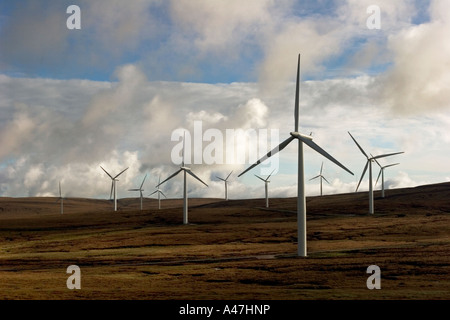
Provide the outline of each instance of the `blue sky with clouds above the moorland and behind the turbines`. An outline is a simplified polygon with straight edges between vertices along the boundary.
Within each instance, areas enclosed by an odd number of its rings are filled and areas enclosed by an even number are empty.
[[[379,159],[400,163],[386,188],[450,181],[449,30],[445,0],[2,1],[0,196],[57,196],[61,182],[109,198],[100,166],[129,167],[119,198],[146,174],[148,195],[178,170],[183,132],[209,186],[190,179],[190,197],[223,197],[217,177],[233,171],[231,199],[262,198],[254,175],[273,170],[270,196],[295,196],[297,143],[237,175],[294,130],[299,54],[299,131],[354,173],[304,146],[308,196],[322,162],[325,194],[355,191],[366,159],[348,132],[368,154],[404,152]],[[182,197],[182,176],[161,189]]]

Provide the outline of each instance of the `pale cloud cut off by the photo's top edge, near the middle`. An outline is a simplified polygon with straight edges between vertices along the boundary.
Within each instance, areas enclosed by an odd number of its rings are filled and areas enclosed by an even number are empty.
[[[265,29],[271,26],[274,15],[285,2],[174,1],[171,15],[181,30],[179,36],[193,39],[200,54],[213,52],[225,59],[236,59],[242,47],[254,44],[265,34]]]

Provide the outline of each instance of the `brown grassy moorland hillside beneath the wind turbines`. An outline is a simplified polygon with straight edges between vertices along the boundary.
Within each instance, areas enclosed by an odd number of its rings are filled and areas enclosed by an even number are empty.
[[[0,198],[2,299],[449,299],[450,184],[307,199],[308,257],[296,257],[296,199]],[[81,290],[66,268],[81,268]],[[381,290],[366,269],[381,268]]]

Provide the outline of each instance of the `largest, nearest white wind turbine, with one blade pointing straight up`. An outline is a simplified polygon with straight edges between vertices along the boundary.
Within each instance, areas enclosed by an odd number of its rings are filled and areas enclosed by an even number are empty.
[[[307,136],[298,132],[299,125],[299,95],[300,95],[300,54],[298,55],[298,65],[297,65],[297,85],[295,91],[295,105],[294,105],[294,120],[295,126],[294,131],[290,133],[290,137],[285,141],[280,143],[275,149],[267,153],[264,157],[259,159],[256,163],[248,167],[239,176],[243,175],[245,172],[253,169],[255,166],[266,160],[267,158],[273,156],[277,152],[283,150],[289,143],[294,139],[298,140],[298,185],[297,185],[297,232],[298,232],[298,255],[306,257],[306,199],[305,199],[305,175],[304,175],[304,165],[303,165],[303,143],[308,145],[313,150],[317,151],[330,161],[334,162],[336,165],[340,166],[347,172],[353,174],[350,170],[344,167],[340,162],[330,156],[325,150],[319,147],[315,142],[312,141],[311,136]]]

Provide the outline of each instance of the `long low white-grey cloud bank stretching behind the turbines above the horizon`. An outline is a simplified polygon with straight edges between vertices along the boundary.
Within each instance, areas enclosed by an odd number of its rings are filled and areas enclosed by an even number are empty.
[[[257,98],[259,91],[255,84],[150,82],[138,67],[131,65],[119,68],[117,74],[117,82],[89,82],[89,86],[72,80],[3,76],[2,88],[13,89],[9,92],[21,88],[21,94],[14,94],[13,99],[5,97],[4,101],[11,105],[2,106],[11,114],[10,118],[1,118],[2,137],[12,137],[3,141],[6,146],[2,148],[6,151],[1,158],[3,195],[51,192],[56,195],[58,181],[62,180],[67,192],[74,196],[107,197],[110,181],[100,165],[112,174],[130,167],[121,179],[121,190],[133,188],[145,173],[150,173],[148,183],[156,184],[157,177],[161,175],[164,179],[177,170],[171,151],[179,140],[171,141],[171,134],[184,128],[192,139],[199,139],[194,137],[196,122],[202,125],[200,152],[205,152],[213,142],[205,139],[208,129],[220,132],[225,146],[227,129],[254,129],[257,152],[262,155],[285,139],[284,135],[292,127],[292,92],[290,97],[283,92],[264,101]],[[300,110],[301,130],[307,134],[313,131],[316,143],[355,173],[352,177],[325,160],[327,179],[332,182],[326,187],[327,192],[355,188],[364,166],[364,156],[348,136],[348,130],[366,152],[405,151],[404,157],[395,160],[399,160],[399,169],[407,170],[405,172],[410,174],[412,181],[423,180],[420,170],[418,175],[414,172],[423,163],[430,162],[430,154],[437,154],[433,156],[434,172],[441,172],[442,176],[447,172],[444,160],[447,155],[438,150],[445,150],[443,146],[450,143],[446,130],[448,114],[442,113],[438,118],[430,117],[421,122],[412,116],[392,117],[387,106],[374,108],[371,97],[377,89],[372,84],[373,78],[360,77],[309,81],[305,85]],[[288,89],[286,92],[292,91],[290,85]],[[39,92],[41,94],[35,94]],[[323,97],[330,92],[335,96],[326,103]],[[67,93],[82,98],[67,99]],[[30,99],[30,96],[34,98]],[[221,98],[217,99],[218,96]],[[416,128],[414,132],[411,132],[411,126]],[[259,136],[260,129],[276,129],[278,135],[272,136],[268,132]],[[234,150],[248,154],[248,142],[252,140],[237,139],[233,143]],[[192,147],[194,150],[194,145]],[[271,184],[273,194],[290,196],[296,186],[296,144],[279,155],[279,172],[274,174]],[[193,169],[207,183],[214,181],[216,175],[227,175],[231,170],[238,174],[251,162],[247,157],[244,163],[205,164],[203,156],[201,154],[200,163],[193,164]],[[320,155],[305,147],[307,176],[317,174],[321,161],[324,159]],[[250,190],[257,192],[258,189],[253,189],[257,188],[256,182],[251,177],[249,173],[236,179],[235,186],[230,188],[238,191],[247,186],[250,188],[248,194],[253,194]],[[316,184],[316,181],[308,182],[308,190],[314,193]],[[167,189],[164,190],[176,195],[181,186],[181,180],[173,179],[165,184]],[[193,182],[190,186],[193,195],[214,196],[220,191],[220,185],[206,189]],[[120,195],[127,196],[122,191]]]

